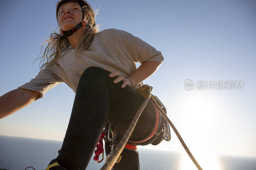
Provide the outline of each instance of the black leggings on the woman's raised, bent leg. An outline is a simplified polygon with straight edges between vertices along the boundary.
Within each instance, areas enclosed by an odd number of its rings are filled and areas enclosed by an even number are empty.
[[[89,67],[82,74],[68,123],[68,129],[56,158],[70,169],[86,169],[107,119],[118,133],[124,135],[145,97],[100,67]],[[147,137],[155,123],[151,102],[143,110],[129,140]],[[141,133],[143,132],[143,133]],[[105,135],[107,136],[107,134]]]

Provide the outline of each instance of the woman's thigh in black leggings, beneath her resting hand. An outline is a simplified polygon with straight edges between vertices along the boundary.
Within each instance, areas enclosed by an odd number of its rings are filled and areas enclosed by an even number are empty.
[[[123,81],[117,83],[117,86],[115,84],[116,88],[111,88],[111,84],[114,86],[113,80],[109,83],[108,121],[115,127],[117,132],[123,136],[146,98],[128,85],[121,88]],[[139,141],[147,137],[154,127],[155,117],[154,106],[151,102],[148,102],[129,140]]]

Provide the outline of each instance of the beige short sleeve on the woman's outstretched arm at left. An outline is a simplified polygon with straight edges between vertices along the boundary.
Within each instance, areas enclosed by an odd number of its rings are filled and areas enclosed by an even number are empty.
[[[56,72],[58,71],[57,69],[58,65],[52,67],[46,66],[43,70],[39,71],[36,77],[31,79],[30,82],[25,83],[18,88],[39,92],[41,95],[39,95],[36,100],[41,99],[43,98],[44,93],[63,82],[63,80],[56,75]]]

